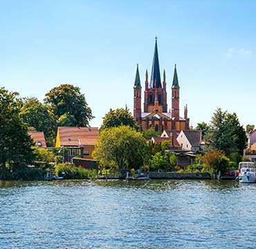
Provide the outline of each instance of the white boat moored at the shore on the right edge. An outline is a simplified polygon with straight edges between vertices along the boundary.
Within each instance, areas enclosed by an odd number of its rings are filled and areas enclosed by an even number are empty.
[[[254,163],[241,162],[239,163],[239,182],[240,183],[255,183],[256,174]]]

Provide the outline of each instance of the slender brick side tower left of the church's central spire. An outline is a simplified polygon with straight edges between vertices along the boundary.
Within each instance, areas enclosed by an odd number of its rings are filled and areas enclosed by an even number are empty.
[[[141,85],[140,73],[138,72],[138,64],[136,70],[136,77],[134,82],[134,118],[138,124],[141,120]]]

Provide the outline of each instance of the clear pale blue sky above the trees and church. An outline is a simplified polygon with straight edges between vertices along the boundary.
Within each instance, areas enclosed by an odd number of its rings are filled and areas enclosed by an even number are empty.
[[[21,97],[79,86],[100,127],[109,109],[133,112],[136,64],[145,89],[155,37],[171,108],[174,64],[190,124],[237,113],[256,124],[256,1],[1,0],[0,87]],[[142,104],[143,106],[143,104]]]

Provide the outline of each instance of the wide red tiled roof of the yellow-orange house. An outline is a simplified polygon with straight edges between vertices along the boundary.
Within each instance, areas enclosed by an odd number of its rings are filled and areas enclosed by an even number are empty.
[[[58,127],[60,146],[95,145],[100,132],[98,127]]]

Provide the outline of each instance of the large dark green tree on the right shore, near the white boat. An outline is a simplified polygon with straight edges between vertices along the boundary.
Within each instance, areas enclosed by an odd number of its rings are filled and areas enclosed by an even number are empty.
[[[227,113],[218,108],[212,116],[210,130],[206,136],[208,149],[219,149],[229,156],[232,151],[243,153],[246,133],[239,124],[236,113]]]

